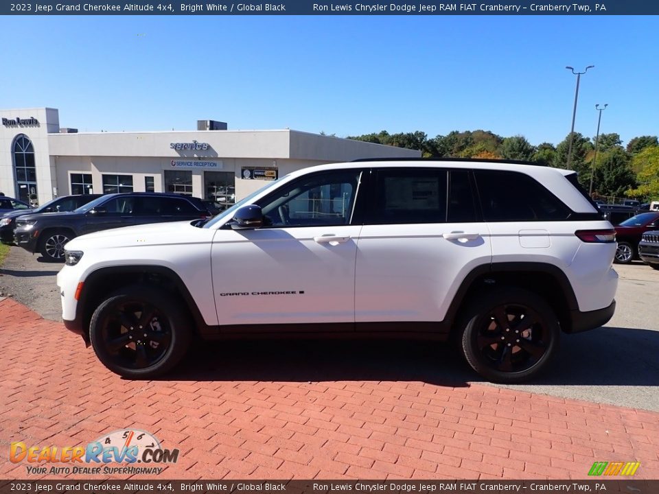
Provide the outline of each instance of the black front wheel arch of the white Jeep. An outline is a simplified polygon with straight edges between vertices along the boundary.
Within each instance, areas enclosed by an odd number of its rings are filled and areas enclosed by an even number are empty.
[[[198,333],[206,323],[194,298],[181,277],[165,266],[135,265],[111,266],[91,272],[84,280],[83,290],[76,306],[76,319],[80,321],[83,338],[89,343],[89,322],[95,309],[107,296],[122,287],[143,284],[163,288],[181,298],[183,306],[194,321],[192,330]]]

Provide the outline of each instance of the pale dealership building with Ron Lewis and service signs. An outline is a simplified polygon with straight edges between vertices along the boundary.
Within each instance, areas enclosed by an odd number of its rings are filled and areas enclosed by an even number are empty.
[[[415,158],[417,150],[297,130],[78,132],[55,108],[0,110],[0,191],[43,204],[80,193],[183,193],[231,204],[294,170],[359,158]]]

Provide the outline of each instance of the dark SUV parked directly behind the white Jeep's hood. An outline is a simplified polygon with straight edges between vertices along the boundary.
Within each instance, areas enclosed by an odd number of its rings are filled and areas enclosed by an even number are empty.
[[[174,193],[107,194],[68,213],[23,215],[16,220],[14,241],[48,261],[64,261],[64,246],[85,233],[137,224],[196,220],[212,214],[198,198]]]

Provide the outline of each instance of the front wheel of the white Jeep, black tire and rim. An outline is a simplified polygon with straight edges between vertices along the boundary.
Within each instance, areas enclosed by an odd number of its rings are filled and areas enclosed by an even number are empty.
[[[99,360],[114,373],[152,379],[170,371],[187,353],[189,318],[170,292],[132,285],[97,307],[89,338]]]

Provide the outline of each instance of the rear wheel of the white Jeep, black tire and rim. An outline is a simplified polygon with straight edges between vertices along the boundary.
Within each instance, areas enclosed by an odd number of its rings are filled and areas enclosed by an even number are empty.
[[[506,384],[527,381],[542,372],[558,350],[561,332],[548,303],[514,287],[474,299],[459,330],[463,355],[474,371]]]

